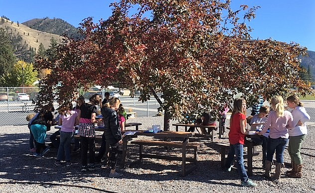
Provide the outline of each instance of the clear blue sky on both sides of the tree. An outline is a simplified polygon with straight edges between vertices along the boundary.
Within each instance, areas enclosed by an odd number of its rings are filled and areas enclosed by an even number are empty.
[[[22,23],[33,18],[61,18],[75,27],[84,18],[97,22],[111,15],[114,0],[0,0],[0,15]],[[296,42],[315,51],[315,0],[231,0],[232,6],[259,5],[248,23],[253,39]]]

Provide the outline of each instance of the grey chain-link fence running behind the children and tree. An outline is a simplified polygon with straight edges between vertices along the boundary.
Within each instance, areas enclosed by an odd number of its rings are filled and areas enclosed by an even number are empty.
[[[33,113],[34,104],[32,104],[32,99],[36,97],[38,91],[38,87],[0,87],[0,126],[27,125],[26,116]],[[99,94],[104,97],[103,91],[100,91]],[[88,97],[85,98],[88,102]],[[161,100],[163,102],[163,99]],[[142,103],[138,101],[138,96],[135,96],[135,98],[120,96],[120,101],[130,119],[133,117],[157,116],[157,109],[160,107],[155,98]],[[302,102],[311,116],[310,122],[315,123],[315,101]],[[58,103],[55,102],[54,106],[57,109]],[[247,111],[247,116],[250,115],[250,112],[250,110]]]

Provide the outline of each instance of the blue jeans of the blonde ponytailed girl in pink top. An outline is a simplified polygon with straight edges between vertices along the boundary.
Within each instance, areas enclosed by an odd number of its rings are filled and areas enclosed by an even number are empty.
[[[286,148],[286,145],[288,143],[288,138],[270,138],[268,137],[268,142],[267,142],[267,158],[266,160],[271,161],[273,159],[273,154],[276,151],[276,160],[277,163],[283,163],[283,154],[284,150]]]

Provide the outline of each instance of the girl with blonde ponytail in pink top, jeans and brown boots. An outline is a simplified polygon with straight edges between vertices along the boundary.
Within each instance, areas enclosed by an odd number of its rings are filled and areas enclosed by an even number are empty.
[[[283,154],[288,143],[288,129],[292,127],[293,117],[289,111],[285,111],[282,96],[273,96],[271,98],[271,107],[273,111],[268,115],[266,124],[262,131],[257,134],[263,134],[270,129],[267,141],[267,157],[265,176],[270,177],[273,154],[276,152],[276,172],[272,176],[274,179],[280,179],[281,166],[283,164]]]

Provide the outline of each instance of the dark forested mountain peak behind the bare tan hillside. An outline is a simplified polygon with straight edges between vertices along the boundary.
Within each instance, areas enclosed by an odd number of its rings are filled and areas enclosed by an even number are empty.
[[[70,23],[59,19],[49,17],[45,17],[43,19],[31,19],[22,23],[32,29],[36,29],[42,32],[57,34],[61,36],[68,36],[74,39],[82,38],[82,36],[78,33],[78,28],[75,28]]]

